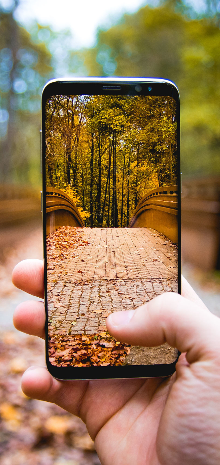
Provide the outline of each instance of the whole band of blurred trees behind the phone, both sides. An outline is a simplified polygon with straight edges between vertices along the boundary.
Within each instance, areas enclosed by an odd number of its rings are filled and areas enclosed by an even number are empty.
[[[40,186],[40,94],[57,75],[154,76],[174,80],[181,95],[184,176],[220,173],[220,16],[177,1],[125,14],[97,45],[71,50],[70,33],[38,24],[29,31],[0,11],[1,182]]]

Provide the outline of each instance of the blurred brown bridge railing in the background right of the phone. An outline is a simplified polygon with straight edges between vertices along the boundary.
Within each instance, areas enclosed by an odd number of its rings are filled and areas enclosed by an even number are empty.
[[[183,259],[220,270],[220,176],[185,179],[181,197]]]

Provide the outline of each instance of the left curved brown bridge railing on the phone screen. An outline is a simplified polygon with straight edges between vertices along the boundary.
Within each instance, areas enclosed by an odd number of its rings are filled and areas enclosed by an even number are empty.
[[[46,187],[46,234],[60,226],[84,227],[77,206],[69,195],[52,187]]]

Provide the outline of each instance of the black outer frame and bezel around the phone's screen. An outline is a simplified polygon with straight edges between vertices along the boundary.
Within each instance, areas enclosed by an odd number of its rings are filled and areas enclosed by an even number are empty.
[[[142,86],[137,92],[135,86]],[[103,89],[103,86],[106,88]],[[148,86],[152,90],[148,90]],[[113,87],[113,88],[112,88]],[[115,88],[114,88],[115,87]],[[48,314],[47,314],[47,267],[46,267],[46,195],[45,195],[45,102],[53,95],[164,95],[173,97],[177,104],[177,188],[178,188],[178,293],[181,294],[181,166],[180,166],[180,96],[176,85],[165,79],[156,78],[74,78],[50,80],[44,87],[41,98],[42,120],[42,212],[44,243],[44,302],[45,302],[45,350],[46,366],[54,378],[71,379],[123,379],[154,378],[170,376],[180,355],[171,364],[164,365],[117,365],[58,367],[49,361],[48,353]]]

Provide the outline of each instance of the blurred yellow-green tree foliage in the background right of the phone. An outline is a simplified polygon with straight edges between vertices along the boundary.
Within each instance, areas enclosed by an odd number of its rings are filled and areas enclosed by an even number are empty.
[[[183,174],[220,173],[219,16],[211,2],[212,17],[192,19],[187,13],[181,2],[166,2],[125,14],[116,26],[99,31],[97,45],[80,56],[90,75],[173,80],[181,96]]]

